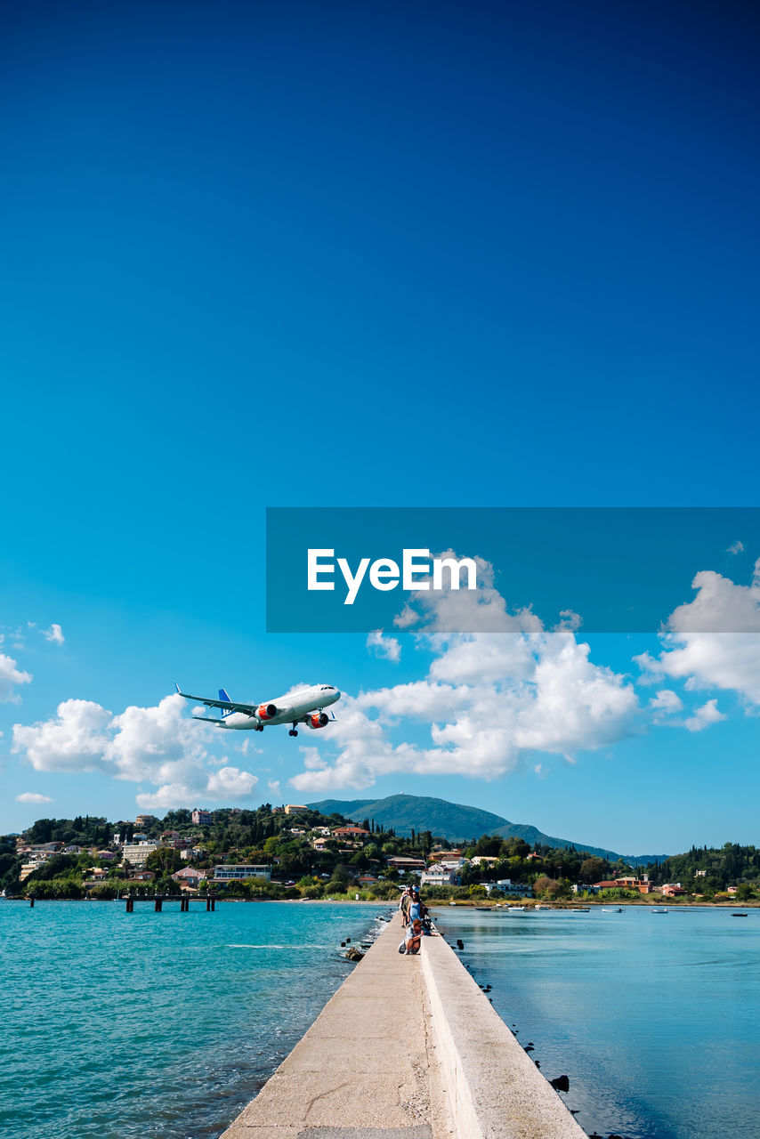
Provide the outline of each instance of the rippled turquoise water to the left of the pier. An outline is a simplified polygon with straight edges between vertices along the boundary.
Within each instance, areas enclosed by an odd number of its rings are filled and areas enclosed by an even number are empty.
[[[213,1139],[387,906],[0,901],[1,1139]]]

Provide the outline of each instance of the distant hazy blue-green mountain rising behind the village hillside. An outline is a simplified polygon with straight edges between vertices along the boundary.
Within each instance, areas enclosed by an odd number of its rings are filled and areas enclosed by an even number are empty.
[[[603,846],[579,843],[571,838],[556,838],[545,835],[537,827],[526,823],[509,822],[500,814],[481,811],[476,806],[465,806],[461,803],[448,803],[443,798],[428,798],[422,795],[389,795],[386,798],[326,798],[319,803],[310,803],[314,811],[322,814],[342,814],[348,819],[361,822],[362,819],[374,819],[385,829],[391,827],[397,835],[409,835],[412,830],[431,830],[434,835],[459,843],[481,835],[499,835],[500,838],[523,838],[533,846],[574,846],[575,850],[597,854],[611,862],[616,862],[620,854]],[[623,854],[623,860],[631,866],[646,866],[655,859],[667,858],[665,854]]]

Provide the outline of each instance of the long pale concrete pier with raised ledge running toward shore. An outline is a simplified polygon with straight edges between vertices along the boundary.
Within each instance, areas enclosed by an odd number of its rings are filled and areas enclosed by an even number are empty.
[[[397,917],[221,1139],[585,1139],[442,937]]]

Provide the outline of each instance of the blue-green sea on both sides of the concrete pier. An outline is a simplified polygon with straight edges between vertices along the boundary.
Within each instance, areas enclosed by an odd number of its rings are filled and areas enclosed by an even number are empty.
[[[0,901],[0,1139],[218,1139],[390,912]],[[760,1139],[760,910],[736,912],[434,916],[588,1134]]]

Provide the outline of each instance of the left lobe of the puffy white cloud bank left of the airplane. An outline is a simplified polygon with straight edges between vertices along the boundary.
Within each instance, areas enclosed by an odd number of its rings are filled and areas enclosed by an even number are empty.
[[[64,700],[52,720],[15,723],[11,751],[23,754],[35,771],[105,770],[111,721],[111,712],[92,700]]]

